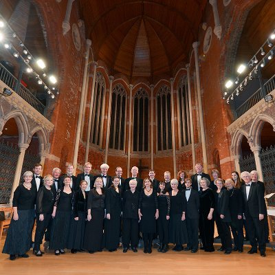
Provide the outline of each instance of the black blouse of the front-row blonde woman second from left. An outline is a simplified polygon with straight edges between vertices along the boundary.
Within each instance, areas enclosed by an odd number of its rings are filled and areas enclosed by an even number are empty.
[[[52,189],[48,190],[45,186],[39,188],[36,197],[36,213],[45,214],[52,213],[54,208],[54,192]]]

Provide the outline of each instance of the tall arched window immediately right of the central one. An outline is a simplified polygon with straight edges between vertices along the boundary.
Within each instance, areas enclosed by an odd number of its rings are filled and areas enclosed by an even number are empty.
[[[157,150],[172,149],[171,91],[166,85],[159,88],[156,96]]]

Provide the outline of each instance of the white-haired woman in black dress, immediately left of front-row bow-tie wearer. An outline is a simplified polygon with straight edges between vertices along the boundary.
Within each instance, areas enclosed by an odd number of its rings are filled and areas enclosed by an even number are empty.
[[[170,221],[169,221],[169,242],[175,243],[174,251],[181,251],[182,245],[187,243],[187,230],[185,221],[185,203],[183,192],[177,188],[177,179],[171,180],[172,190],[170,195]]]

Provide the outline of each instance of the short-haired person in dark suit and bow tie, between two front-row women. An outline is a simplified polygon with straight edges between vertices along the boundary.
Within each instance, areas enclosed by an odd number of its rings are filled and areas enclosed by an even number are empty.
[[[196,253],[199,246],[199,192],[192,189],[191,185],[191,179],[186,178],[184,198],[186,203],[185,217],[188,242],[184,250],[191,250],[192,253]]]

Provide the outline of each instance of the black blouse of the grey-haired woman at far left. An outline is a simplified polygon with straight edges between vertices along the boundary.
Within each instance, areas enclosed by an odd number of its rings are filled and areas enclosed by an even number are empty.
[[[14,191],[12,207],[17,207],[17,210],[34,209],[36,193],[35,186],[31,186],[30,190],[28,190],[23,184],[19,185]]]

